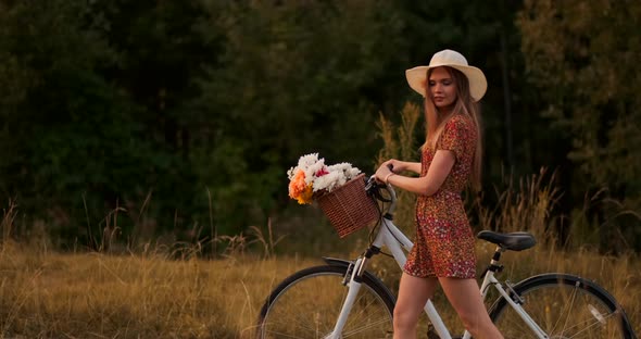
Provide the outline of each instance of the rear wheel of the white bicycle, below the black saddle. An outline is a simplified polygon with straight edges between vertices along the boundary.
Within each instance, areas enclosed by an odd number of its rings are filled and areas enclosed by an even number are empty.
[[[549,338],[634,338],[614,297],[591,280],[552,273],[525,279],[513,290],[511,298],[523,300],[523,309]],[[503,297],[489,312],[505,338],[536,338]]]

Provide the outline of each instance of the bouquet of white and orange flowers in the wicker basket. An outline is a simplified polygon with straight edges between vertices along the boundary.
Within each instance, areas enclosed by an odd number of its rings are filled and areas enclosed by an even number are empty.
[[[299,159],[297,166],[287,171],[289,177],[289,197],[300,204],[310,204],[315,194],[330,192],[361,174],[361,170],[350,163],[326,165],[318,153],[311,153]]]

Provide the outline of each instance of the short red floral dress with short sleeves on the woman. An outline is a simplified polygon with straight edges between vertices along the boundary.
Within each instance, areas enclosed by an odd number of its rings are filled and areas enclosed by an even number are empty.
[[[445,123],[437,150],[454,152],[456,161],[441,188],[416,201],[416,239],[403,271],[416,277],[474,278],[475,237],[461,198],[474,159],[477,131],[473,122],[456,114]],[[420,176],[427,175],[436,151],[423,148]]]

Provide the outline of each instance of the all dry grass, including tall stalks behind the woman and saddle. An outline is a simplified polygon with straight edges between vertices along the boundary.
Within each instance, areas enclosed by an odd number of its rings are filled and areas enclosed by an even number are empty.
[[[419,112],[406,105],[398,129],[381,117],[388,147],[380,160],[418,159],[411,140]],[[528,230],[540,240],[526,252],[505,253],[500,277],[518,281],[564,272],[595,280],[619,301],[641,332],[641,259],[634,253],[602,255],[577,239],[571,246],[558,243],[558,223],[551,211],[560,193],[550,178],[553,174],[544,171],[529,178],[506,178],[505,188],[493,192],[500,208],[488,209],[478,200],[470,204],[476,227]],[[395,221],[412,236],[414,198],[401,193],[400,199]],[[323,216],[310,210],[299,218],[271,219],[248,234],[218,235],[214,246],[226,249],[218,260],[200,259],[198,242],[149,242],[136,253],[56,253],[46,239],[14,241],[16,215],[10,202],[0,223],[0,338],[251,338],[274,287],[293,272],[319,264],[309,254],[353,259],[367,246],[365,231],[338,240],[320,222]],[[46,238],[45,225],[35,226]],[[479,273],[493,250],[492,244],[477,243]],[[391,260],[377,258],[369,269],[395,290],[400,269]],[[452,331],[461,331],[441,293],[435,302]]]

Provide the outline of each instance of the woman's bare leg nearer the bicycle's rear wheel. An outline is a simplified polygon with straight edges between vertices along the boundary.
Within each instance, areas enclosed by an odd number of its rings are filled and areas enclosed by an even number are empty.
[[[503,338],[492,324],[475,279],[439,278],[443,292],[474,338]]]

